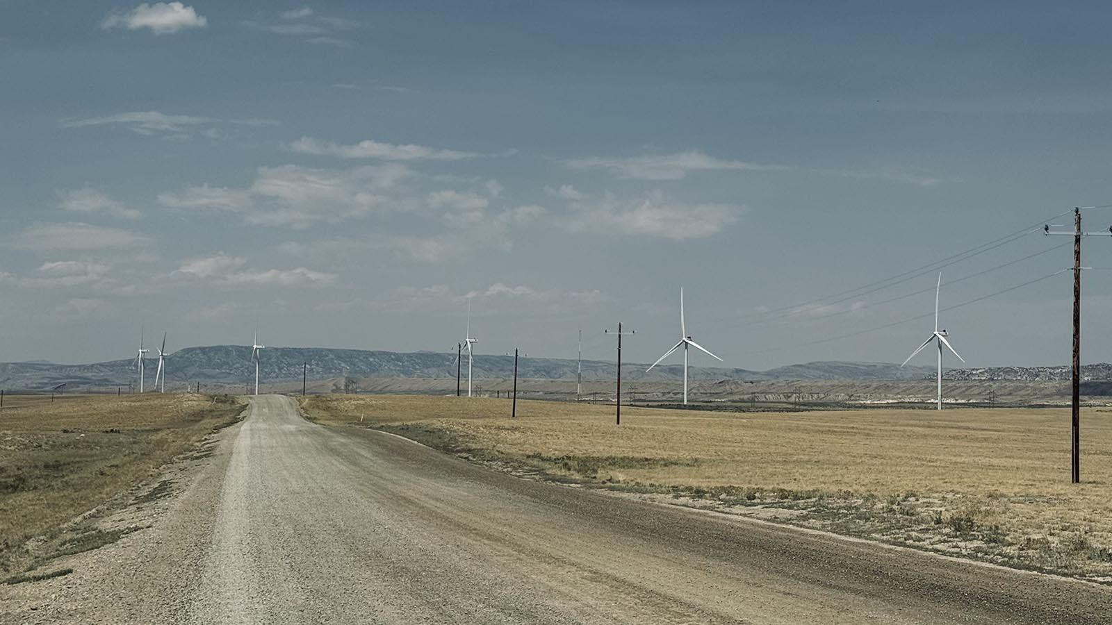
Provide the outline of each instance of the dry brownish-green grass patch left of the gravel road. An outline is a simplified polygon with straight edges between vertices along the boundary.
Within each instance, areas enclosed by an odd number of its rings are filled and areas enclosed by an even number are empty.
[[[49,542],[63,523],[150,478],[241,411],[230,398],[191,394],[4,396],[0,572],[33,559],[29,539]],[[91,533],[60,548],[72,553],[92,538],[103,539]]]

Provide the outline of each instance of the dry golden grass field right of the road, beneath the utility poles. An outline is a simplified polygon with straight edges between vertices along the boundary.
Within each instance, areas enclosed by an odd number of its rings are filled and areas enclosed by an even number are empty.
[[[1112,411],[711,413],[427,396],[310,396],[310,418],[523,474],[1112,583]]]

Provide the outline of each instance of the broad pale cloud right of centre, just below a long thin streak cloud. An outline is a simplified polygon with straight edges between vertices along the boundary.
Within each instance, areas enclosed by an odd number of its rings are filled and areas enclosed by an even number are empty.
[[[698,239],[722,231],[737,221],[742,206],[725,204],[683,204],[665,198],[661,191],[633,200],[605,195],[594,200],[574,201],[564,221],[573,232],[615,232],[665,239]]]

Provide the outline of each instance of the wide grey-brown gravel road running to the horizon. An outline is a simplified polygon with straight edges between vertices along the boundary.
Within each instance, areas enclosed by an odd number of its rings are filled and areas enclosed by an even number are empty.
[[[254,399],[151,527],[0,623],[1112,622],[1112,591],[475,467]]]

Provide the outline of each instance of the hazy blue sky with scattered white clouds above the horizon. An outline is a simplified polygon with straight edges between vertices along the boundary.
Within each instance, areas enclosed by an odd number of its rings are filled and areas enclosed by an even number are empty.
[[[610,358],[622,319],[652,361],[682,285],[728,366],[902,361],[936,274],[822,298],[1112,204],[1112,9],[969,4],[0,0],[0,360],[256,317],[268,345],[446,351],[473,294],[478,353],[574,357],[583,328]],[[1065,242],[946,267],[943,306]],[[1082,356],[1112,360],[1112,239],[1085,249]],[[972,366],[1064,364],[1070,292],[943,325]]]

